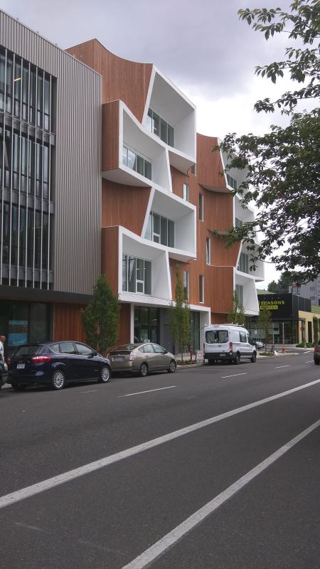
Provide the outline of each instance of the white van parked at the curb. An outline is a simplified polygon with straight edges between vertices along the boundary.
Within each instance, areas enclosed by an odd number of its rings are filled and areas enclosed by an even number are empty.
[[[205,360],[213,364],[215,361],[232,361],[240,363],[240,359],[250,359],[255,363],[257,349],[249,332],[237,324],[215,324],[204,329]]]

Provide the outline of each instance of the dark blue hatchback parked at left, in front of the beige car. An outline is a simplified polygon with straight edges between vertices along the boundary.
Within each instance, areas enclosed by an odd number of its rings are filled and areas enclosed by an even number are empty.
[[[110,361],[82,342],[51,341],[20,346],[8,358],[9,378],[15,390],[28,385],[50,385],[63,389],[68,381],[95,379],[107,383]]]

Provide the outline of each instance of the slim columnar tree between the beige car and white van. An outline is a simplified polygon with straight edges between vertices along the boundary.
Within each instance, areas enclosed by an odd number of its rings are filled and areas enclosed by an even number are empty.
[[[181,352],[181,361],[183,361],[183,353],[188,350],[191,341],[191,323],[189,302],[178,267],[176,270],[175,292],[176,301],[171,302],[169,307],[169,329],[175,346]]]

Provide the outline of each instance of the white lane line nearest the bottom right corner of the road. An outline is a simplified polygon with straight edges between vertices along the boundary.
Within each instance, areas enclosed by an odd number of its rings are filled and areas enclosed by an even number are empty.
[[[246,484],[251,482],[255,477],[257,477],[261,472],[263,472],[266,468],[270,467],[276,460],[282,457],[286,452],[288,452],[294,445],[297,445],[298,442],[307,437],[312,431],[314,431],[320,425],[320,420],[310,425],[306,430],[302,431],[294,437],[292,440],[289,440],[283,447],[280,447],[276,452],[270,454],[265,460],[262,460],[260,464],[257,464],[255,468],[252,468],[247,474],[244,474],[241,478],[239,478],[236,482],[228,486],[227,489],[220,492],[218,496],[215,496],[213,500],[208,502],[205,506],[201,509],[196,511],[192,516],[189,516],[185,521],[180,523],[176,528],[166,534],[163,538],[159,539],[153,546],[149,547],[136,557],[127,565],[124,565],[122,569],[143,569],[149,563],[153,562],[157,558],[160,557],[165,551],[172,547],[178,540],[186,536],[186,533],[191,531],[193,528],[198,526],[204,519],[206,519],[210,514],[212,514],[219,506],[224,504],[225,501],[232,498],[239,490],[241,490]]]

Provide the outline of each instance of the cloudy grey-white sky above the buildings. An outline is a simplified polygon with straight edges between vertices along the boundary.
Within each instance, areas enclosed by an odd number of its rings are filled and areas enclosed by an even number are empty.
[[[4,11],[61,48],[97,38],[117,55],[155,63],[197,105],[197,130],[266,132],[279,115],[257,115],[256,100],[284,92],[256,78],[255,65],[281,60],[287,38],[266,42],[238,9],[289,9],[292,0],[0,0]],[[266,282],[279,275],[266,267]],[[265,286],[265,283],[262,283]]]

